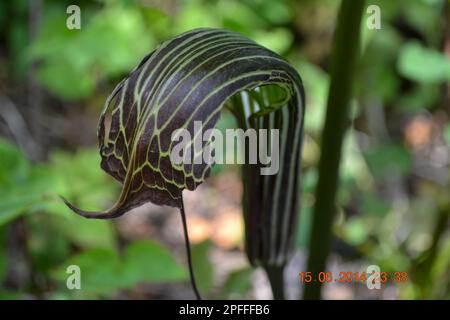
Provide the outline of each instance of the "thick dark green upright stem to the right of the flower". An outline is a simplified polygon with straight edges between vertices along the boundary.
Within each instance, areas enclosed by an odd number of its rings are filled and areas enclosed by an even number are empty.
[[[325,125],[322,133],[319,180],[313,211],[307,271],[317,276],[325,270],[330,249],[331,227],[336,211],[342,141],[349,124],[349,104],[353,74],[358,58],[360,24],[364,0],[343,0],[331,55],[331,82]],[[311,282],[305,299],[320,299],[321,283]]]

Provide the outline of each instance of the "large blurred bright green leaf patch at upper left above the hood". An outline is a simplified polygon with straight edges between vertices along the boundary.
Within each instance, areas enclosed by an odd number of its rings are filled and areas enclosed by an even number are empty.
[[[128,71],[154,45],[140,11],[120,2],[95,12],[83,8],[81,30],[61,27],[66,23],[61,10],[46,13],[28,58],[40,62],[41,84],[63,99],[89,97],[103,77]]]

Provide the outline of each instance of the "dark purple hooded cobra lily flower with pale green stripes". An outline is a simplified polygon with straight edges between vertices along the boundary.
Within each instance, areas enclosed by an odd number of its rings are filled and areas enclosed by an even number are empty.
[[[119,199],[105,212],[80,210],[65,200],[77,214],[97,219],[119,217],[147,202],[179,208],[198,297],[182,191],[200,185],[211,164],[172,163],[171,136],[180,128],[193,135],[194,121],[202,121],[204,130],[214,128],[225,106],[242,129],[279,130],[279,171],[261,175],[263,164],[242,168],[246,253],[268,271],[272,287],[279,286],[299,213],[303,86],[287,61],[238,33],[196,29],[147,55],[109,96],[98,126],[101,167],[122,183]]]

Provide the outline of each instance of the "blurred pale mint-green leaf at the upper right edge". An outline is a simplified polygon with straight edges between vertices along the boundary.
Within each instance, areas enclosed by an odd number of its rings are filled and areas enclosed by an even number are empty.
[[[450,81],[450,59],[418,42],[408,42],[403,46],[398,69],[403,76],[420,83]]]

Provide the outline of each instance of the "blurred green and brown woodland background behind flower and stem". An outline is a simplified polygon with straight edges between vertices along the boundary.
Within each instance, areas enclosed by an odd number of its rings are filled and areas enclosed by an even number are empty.
[[[160,42],[196,27],[241,32],[303,78],[306,133],[298,253],[305,271],[329,56],[338,0],[0,2],[0,299],[192,298],[181,221],[146,205],[114,221],[75,216],[58,198],[109,208],[120,186],[99,166],[96,125],[109,93]],[[448,0],[368,1],[345,138],[328,270],[408,272],[382,290],[327,284],[326,299],[450,298],[450,9]],[[233,121],[224,114],[219,126]],[[300,196],[300,195],[299,195]],[[271,298],[243,253],[239,170],[216,166],[185,191],[194,268],[207,298]],[[82,270],[68,290],[66,268]]]

